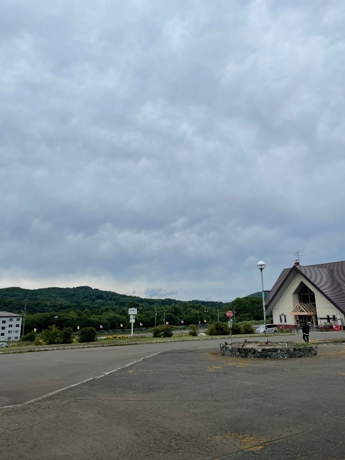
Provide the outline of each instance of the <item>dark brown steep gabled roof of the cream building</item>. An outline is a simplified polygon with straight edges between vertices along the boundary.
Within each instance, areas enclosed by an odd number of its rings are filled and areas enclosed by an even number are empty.
[[[296,272],[301,273],[315,289],[345,314],[345,261],[306,266],[294,265],[292,268],[284,268],[266,297],[266,308],[271,305],[290,275]]]

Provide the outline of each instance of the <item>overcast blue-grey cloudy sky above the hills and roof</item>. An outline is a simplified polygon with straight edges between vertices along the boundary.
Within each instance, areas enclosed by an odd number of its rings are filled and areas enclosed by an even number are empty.
[[[2,0],[0,287],[228,302],[345,259],[342,0]]]

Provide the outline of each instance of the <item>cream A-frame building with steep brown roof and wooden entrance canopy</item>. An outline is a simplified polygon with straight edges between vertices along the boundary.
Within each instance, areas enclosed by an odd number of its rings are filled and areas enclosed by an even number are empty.
[[[266,315],[287,328],[345,323],[345,261],[284,268],[265,300]]]

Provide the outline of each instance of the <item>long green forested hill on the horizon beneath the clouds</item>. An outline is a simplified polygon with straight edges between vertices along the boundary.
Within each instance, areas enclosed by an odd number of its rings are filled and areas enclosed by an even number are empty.
[[[171,298],[154,299],[142,298],[112,291],[102,291],[89,286],[75,288],[41,288],[22,289],[10,287],[0,289],[0,310],[21,313],[27,299],[28,313],[57,313],[61,311],[78,311],[87,309],[89,312],[98,312],[102,307],[110,307],[111,310],[127,308],[131,306],[142,307],[165,307],[173,304],[188,307],[201,305],[203,307],[219,308],[228,304],[222,302],[207,301],[176,301]]]

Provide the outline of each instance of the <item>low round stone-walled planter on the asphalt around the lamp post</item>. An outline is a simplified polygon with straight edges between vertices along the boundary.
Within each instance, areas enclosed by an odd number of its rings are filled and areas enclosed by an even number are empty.
[[[260,346],[249,342],[243,343],[221,343],[220,354],[234,358],[307,358],[317,355],[317,347],[294,347],[293,343],[272,344],[272,346]]]

